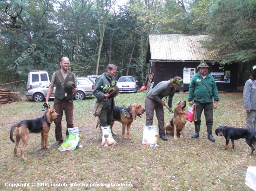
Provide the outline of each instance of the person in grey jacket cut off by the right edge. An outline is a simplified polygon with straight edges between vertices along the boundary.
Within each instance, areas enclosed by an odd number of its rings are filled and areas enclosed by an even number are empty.
[[[256,131],[256,65],[252,67],[250,78],[244,85],[243,102],[246,110],[245,128]]]

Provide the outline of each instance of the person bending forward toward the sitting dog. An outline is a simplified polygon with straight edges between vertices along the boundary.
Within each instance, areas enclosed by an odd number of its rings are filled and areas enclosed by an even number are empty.
[[[156,118],[158,120],[158,130],[159,135],[162,140],[167,140],[165,136],[165,125],[164,125],[164,112],[163,106],[165,103],[162,101],[164,96],[168,96],[168,106],[172,108],[172,99],[175,94],[176,88],[182,88],[183,83],[177,80],[182,78],[176,76],[174,79],[168,81],[162,81],[158,83],[153,89],[151,89],[145,99],[145,109],[146,109],[146,125],[153,124],[154,110]]]

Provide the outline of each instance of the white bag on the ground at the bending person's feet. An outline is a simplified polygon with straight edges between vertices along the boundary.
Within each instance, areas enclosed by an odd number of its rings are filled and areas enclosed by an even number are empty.
[[[158,134],[157,125],[145,125],[144,124],[142,144],[149,145],[150,147],[152,147],[153,145],[156,145],[156,137],[155,137],[156,134]]]

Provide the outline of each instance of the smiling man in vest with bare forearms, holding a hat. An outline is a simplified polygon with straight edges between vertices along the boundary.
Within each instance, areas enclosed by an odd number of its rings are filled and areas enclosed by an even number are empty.
[[[74,104],[73,104],[73,93],[77,92],[75,88],[76,76],[73,72],[69,71],[70,61],[67,57],[61,58],[61,70],[54,72],[52,77],[51,85],[47,92],[46,104],[49,106],[49,98],[53,93],[54,85],[56,85],[56,90],[54,94],[54,109],[59,114],[59,118],[54,120],[55,123],[55,137],[56,143],[53,145],[54,147],[59,146],[63,142],[62,137],[62,116],[63,110],[65,111],[67,128],[74,127]],[[67,83],[73,83],[74,87],[70,91],[68,91]],[[68,130],[66,131],[66,135],[68,134]]]

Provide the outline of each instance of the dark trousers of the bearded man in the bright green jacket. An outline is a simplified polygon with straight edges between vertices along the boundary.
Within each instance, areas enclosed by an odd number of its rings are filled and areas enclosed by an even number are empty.
[[[196,104],[196,115],[197,115],[197,121],[194,122],[195,125],[201,124],[202,110],[205,116],[206,125],[213,125],[212,102],[200,103],[200,102],[194,101],[194,103]]]

